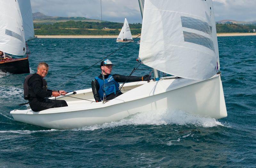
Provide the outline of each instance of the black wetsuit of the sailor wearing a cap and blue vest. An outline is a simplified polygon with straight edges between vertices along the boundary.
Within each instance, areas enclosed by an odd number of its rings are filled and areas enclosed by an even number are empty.
[[[100,74],[99,76],[100,79],[102,79],[102,74]],[[105,79],[108,78],[108,75],[105,75],[104,77]],[[113,75],[113,78],[117,81],[117,82],[136,82],[136,81],[141,81],[141,77],[138,77],[138,76],[124,76],[124,75],[118,75],[118,74],[115,74]],[[99,89],[100,89],[100,85],[98,83],[97,80],[92,80],[92,93],[94,95],[94,99],[96,102],[101,102],[101,99],[100,99],[100,95],[99,95]],[[116,92],[116,94],[111,94],[111,95],[108,95],[106,97],[107,100],[111,100],[111,99],[114,99],[115,97],[119,96],[119,95],[122,95],[123,93],[119,90],[118,92]]]

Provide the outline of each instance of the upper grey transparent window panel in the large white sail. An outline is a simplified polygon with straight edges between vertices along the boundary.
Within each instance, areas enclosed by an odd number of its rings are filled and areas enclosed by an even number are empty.
[[[190,17],[181,16],[182,27],[187,27],[212,35],[211,26],[208,23]]]

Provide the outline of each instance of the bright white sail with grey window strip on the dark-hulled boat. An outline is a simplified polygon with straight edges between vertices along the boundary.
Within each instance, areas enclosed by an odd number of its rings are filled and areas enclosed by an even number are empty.
[[[1,0],[0,6],[0,50],[24,55],[26,45],[19,4],[15,0]]]

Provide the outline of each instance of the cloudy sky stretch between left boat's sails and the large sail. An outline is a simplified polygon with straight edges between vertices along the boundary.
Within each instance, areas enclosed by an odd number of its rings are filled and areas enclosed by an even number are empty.
[[[49,16],[80,16],[101,19],[100,0],[31,0],[32,12]],[[138,0],[102,0],[102,20],[141,22]]]

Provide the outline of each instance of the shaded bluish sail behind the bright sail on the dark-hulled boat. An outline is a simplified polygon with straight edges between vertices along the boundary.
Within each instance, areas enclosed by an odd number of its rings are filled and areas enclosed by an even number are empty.
[[[23,20],[25,40],[28,41],[35,38],[30,0],[18,0],[18,2]]]

